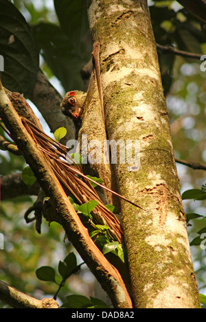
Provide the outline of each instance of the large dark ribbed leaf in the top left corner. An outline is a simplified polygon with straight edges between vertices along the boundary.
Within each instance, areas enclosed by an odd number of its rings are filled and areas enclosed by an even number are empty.
[[[0,0],[0,55],[4,58],[3,86],[29,97],[36,83],[39,53],[30,26],[16,7]]]

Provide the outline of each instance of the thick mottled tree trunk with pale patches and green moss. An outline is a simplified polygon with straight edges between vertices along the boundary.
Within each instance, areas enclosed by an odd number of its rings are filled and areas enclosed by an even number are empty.
[[[140,142],[140,166],[138,149],[133,164],[114,164],[118,193],[144,208],[121,201],[135,308],[199,308],[147,1],[88,3],[108,138]]]

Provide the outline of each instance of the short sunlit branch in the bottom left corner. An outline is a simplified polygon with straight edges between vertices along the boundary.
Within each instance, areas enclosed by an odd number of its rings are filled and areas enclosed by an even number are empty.
[[[35,299],[0,281],[0,300],[12,308],[58,308],[55,299]]]

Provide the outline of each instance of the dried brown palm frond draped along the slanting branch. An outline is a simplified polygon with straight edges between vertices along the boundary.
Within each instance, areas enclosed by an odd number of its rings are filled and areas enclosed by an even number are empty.
[[[104,206],[104,203],[98,196],[98,193],[96,193],[95,189],[91,185],[93,180],[89,179],[82,173],[81,167],[74,162],[71,156],[69,156],[67,147],[47,136],[47,134],[41,131],[39,127],[36,127],[36,125],[34,125],[34,123],[31,121],[23,117],[22,121],[27,128],[27,131],[31,134],[36,144],[40,147],[48,164],[50,164],[52,167],[52,170],[62,185],[62,188],[65,190],[67,196],[73,195],[73,197],[75,197],[80,204],[87,203],[89,200],[98,201],[98,205],[93,209],[93,216],[95,220],[100,224],[106,224],[108,227],[110,227],[112,236],[121,243],[123,232],[119,220],[115,214],[113,214],[113,212]],[[67,162],[68,158],[70,162]],[[98,183],[95,182],[95,184]],[[98,185],[102,186],[101,184]],[[106,187],[102,186],[102,188]],[[113,191],[111,192],[115,193]],[[122,197],[121,195],[117,193],[115,193],[115,195],[118,195],[124,200],[135,205],[133,202]],[[137,207],[140,208],[139,206]]]

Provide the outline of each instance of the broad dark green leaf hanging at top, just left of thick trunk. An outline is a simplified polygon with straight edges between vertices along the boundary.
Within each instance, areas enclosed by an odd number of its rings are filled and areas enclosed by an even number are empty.
[[[39,51],[66,92],[83,90],[80,70],[91,58],[86,3],[64,0],[54,5],[60,26],[42,22],[32,27]]]

